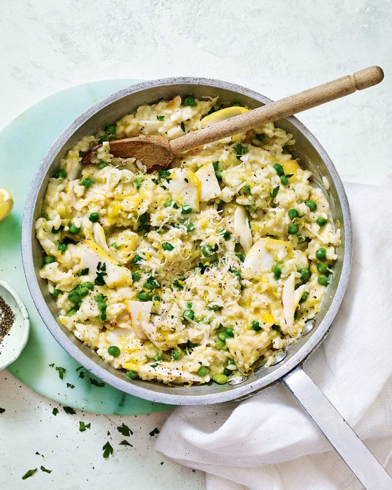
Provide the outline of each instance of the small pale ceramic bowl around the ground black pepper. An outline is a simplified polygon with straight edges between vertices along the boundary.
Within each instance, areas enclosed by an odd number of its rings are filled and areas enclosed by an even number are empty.
[[[29,313],[18,293],[0,280],[0,296],[14,313],[14,323],[0,344],[0,370],[14,362],[26,346],[30,333]]]

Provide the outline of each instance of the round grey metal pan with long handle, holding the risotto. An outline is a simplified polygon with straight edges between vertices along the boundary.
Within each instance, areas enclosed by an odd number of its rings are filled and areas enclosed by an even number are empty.
[[[170,78],[144,82],[120,90],[75,119],[45,155],[32,183],[23,216],[23,267],[42,320],[59,344],[87,370],[106,383],[147,400],[179,405],[205,405],[247,398],[273,383],[284,383],[367,490],[392,489],[392,479],[301,367],[328,334],[346,290],[352,258],[352,230],[346,193],[335,167],[320,143],[295,117],[279,120],[276,125],[293,134],[297,148],[295,156],[300,157],[302,165],[312,171],[313,182],[322,187],[322,177],[328,178],[330,189],[326,192],[326,197],[335,222],[338,220],[340,223],[342,238],[336,251],[338,259],[334,266],[334,277],[327,288],[315,322],[307,325],[297,344],[290,346],[272,366],[260,367],[239,384],[169,387],[152,381],[130,381],[123,372],[106,364],[56,321],[56,303],[48,293],[45,281],[39,277],[42,254],[34,230],[48,179],[59,166],[61,158],[83,136],[95,134],[97,129],[118,120],[142,104],[154,103],[161,97],[168,99],[178,94],[192,94],[198,99],[206,95],[219,96],[222,103],[231,104],[235,101],[249,107],[271,102],[263,95],[227,82],[201,78]]]

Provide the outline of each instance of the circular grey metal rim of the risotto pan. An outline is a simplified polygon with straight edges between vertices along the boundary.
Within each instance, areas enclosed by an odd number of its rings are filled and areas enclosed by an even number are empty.
[[[282,363],[275,371],[263,376],[260,379],[255,380],[252,383],[246,385],[237,385],[228,389],[226,391],[218,391],[211,394],[201,394],[201,395],[186,395],[186,387],[179,386],[175,388],[168,388],[171,393],[163,393],[162,391],[154,391],[143,386],[139,386],[137,383],[127,381],[126,379],[120,379],[115,377],[109,371],[103,369],[99,364],[95,363],[92,359],[87,357],[63,332],[59,324],[55,320],[49,310],[46,302],[41,293],[38,280],[35,274],[34,261],[33,261],[33,251],[32,251],[32,240],[35,239],[32,231],[34,230],[34,213],[32,210],[36,206],[36,201],[38,193],[40,191],[43,179],[47,173],[48,168],[52,164],[54,158],[61,151],[66,141],[74,134],[90,117],[95,113],[109,106],[111,103],[117,100],[131,95],[133,93],[155,88],[163,87],[167,85],[202,85],[206,87],[214,87],[220,89],[227,89],[233,92],[237,92],[255,99],[262,104],[268,104],[272,102],[271,99],[265,97],[264,95],[250,90],[246,87],[242,87],[237,84],[230,82],[225,82],[216,79],[209,78],[199,78],[199,77],[174,77],[174,78],[163,78],[156,80],[149,80],[141,82],[135,85],[131,85],[124,89],[118,90],[113,94],[105,97],[101,101],[95,103],[84,111],[80,116],[78,116],[71,124],[58,136],[58,138],[51,145],[45,154],[37,173],[31,184],[29,194],[26,200],[26,207],[23,213],[22,221],[22,262],[24,274],[28,283],[30,294],[33,298],[35,306],[45,324],[47,329],[52,333],[59,344],[68,352],[71,357],[76,359],[81,365],[83,365],[88,371],[90,371],[95,376],[101,378],[106,383],[111,386],[116,387],[125,393],[150,400],[159,403],[168,404],[178,404],[178,405],[205,405],[220,403],[230,400],[235,400],[238,398],[246,398],[251,396],[254,392],[259,391],[273,383],[280,382],[281,378],[289,373],[292,369],[304,360],[306,360],[312,352],[321,344],[324,340],[328,331],[331,327],[332,321],[338,311],[341,300],[347,288],[349,281],[351,261],[352,261],[352,222],[351,214],[348,204],[347,195],[341,179],[331,161],[328,154],[324,150],[323,146],[318,142],[315,136],[295,117],[289,116],[286,119],[293,124],[311,143],[313,148],[321,156],[323,162],[325,163],[329,174],[334,182],[337,197],[340,202],[343,216],[343,224],[345,232],[345,244],[344,244],[344,255],[342,261],[342,269],[340,274],[340,280],[337,284],[334,298],[331,302],[329,309],[327,310],[325,316],[323,317],[320,325],[318,325],[317,330],[314,334],[309,337],[304,343],[304,345],[296,352],[290,359]],[[174,393],[174,391],[176,393]],[[182,395],[179,392],[184,392]]]

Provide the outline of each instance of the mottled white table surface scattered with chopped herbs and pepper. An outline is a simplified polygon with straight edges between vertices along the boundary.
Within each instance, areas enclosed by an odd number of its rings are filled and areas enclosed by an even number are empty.
[[[202,76],[279,99],[378,64],[381,85],[299,118],[344,181],[390,185],[391,25],[390,0],[13,0],[0,16],[0,129],[43,97],[94,80]],[[202,472],[153,449],[149,432],[169,411],[55,417],[55,406],[0,372],[2,488],[205,488]],[[91,429],[80,432],[81,420]],[[134,431],[132,448],[117,445],[122,423]],[[108,431],[115,452],[103,459]],[[41,472],[41,464],[52,473]],[[32,468],[37,474],[22,481]]]

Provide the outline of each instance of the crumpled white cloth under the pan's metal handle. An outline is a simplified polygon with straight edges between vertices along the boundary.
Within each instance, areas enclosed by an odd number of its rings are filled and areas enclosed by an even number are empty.
[[[391,473],[392,190],[345,188],[351,277],[331,332],[304,370]],[[242,402],[178,407],[155,449],[204,470],[208,490],[362,488],[283,385]]]

